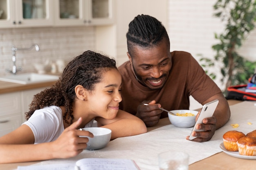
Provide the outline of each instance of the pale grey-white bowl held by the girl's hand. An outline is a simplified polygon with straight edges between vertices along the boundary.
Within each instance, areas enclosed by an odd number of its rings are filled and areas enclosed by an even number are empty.
[[[88,136],[81,136],[81,137],[88,137],[89,142],[87,143],[86,150],[97,150],[104,148],[111,138],[111,130],[107,128],[101,127],[90,127],[90,128],[83,128],[84,131],[91,132],[94,137]]]

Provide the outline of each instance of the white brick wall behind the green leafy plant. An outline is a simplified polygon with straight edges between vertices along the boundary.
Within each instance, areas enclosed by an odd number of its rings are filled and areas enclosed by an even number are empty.
[[[213,59],[216,54],[211,46],[217,44],[214,33],[222,33],[224,24],[220,18],[213,17],[213,4],[217,0],[168,0],[168,34],[171,51],[190,52],[199,61],[197,54]],[[239,52],[242,56],[256,61],[256,29],[248,35]],[[219,70],[218,66],[212,70]],[[217,72],[217,71],[216,71]],[[220,75],[220,72],[217,72]],[[220,77],[220,76],[219,76]],[[220,79],[216,84],[223,89]],[[191,109],[201,107],[191,98]]]

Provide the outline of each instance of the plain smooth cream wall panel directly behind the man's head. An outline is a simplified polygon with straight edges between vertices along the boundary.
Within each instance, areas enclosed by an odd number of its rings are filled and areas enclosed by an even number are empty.
[[[117,64],[128,61],[126,33],[129,23],[137,15],[147,14],[168,27],[168,0],[117,0]]]

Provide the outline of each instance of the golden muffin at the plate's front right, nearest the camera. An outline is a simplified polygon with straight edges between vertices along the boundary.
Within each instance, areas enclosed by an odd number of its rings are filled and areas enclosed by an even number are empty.
[[[256,156],[256,137],[241,137],[237,141],[240,155]]]

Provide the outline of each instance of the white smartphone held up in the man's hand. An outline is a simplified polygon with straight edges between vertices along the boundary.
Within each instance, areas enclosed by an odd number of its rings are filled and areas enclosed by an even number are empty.
[[[198,116],[198,119],[195,122],[195,126],[197,124],[202,124],[203,123],[202,121],[203,121],[204,118],[212,117],[213,113],[214,113],[214,111],[215,111],[215,109],[216,109],[216,107],[218,105],[218,103],[219,103],[219,100],[213,100],[213,101],[211,101],[209,103],[204,104],[202,109],[201,109],[201,112],[200,112],[200,114]],[[191,136],[193,131],[204,131],[204,130],[196,129],[195,126],[193,127],[193,129],[192,129],[192,131],[191,131],[191,133],[189,135],[189,140],[192,140],[192,139],[196,138],[195,136]]]

